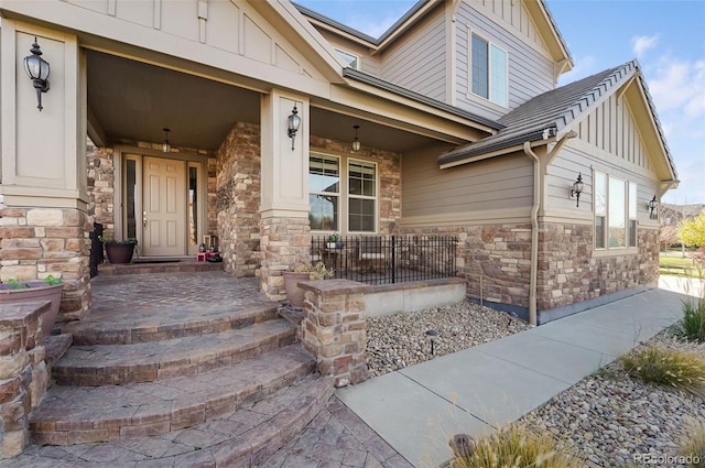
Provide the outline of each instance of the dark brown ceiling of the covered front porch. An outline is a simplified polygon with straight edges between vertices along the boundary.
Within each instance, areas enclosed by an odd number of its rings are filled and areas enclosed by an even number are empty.
[[[175,146],[217,150],[236,122],[259,124],[260,92],[195,75],[87,50],[90,122],[110,143],[164,140]],[[265,88],[264,86],[262,88]],[[356,109],[312,104],[311,134],[405,152],[437,141]]]

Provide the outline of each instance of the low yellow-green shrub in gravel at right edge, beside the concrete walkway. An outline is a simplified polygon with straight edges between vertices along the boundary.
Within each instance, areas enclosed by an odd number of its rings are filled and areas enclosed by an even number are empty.
[[[705,361],[696,353],[648,345],[619,358],[629,376],[646,383],[671,387],[694,394],[705,390]]]

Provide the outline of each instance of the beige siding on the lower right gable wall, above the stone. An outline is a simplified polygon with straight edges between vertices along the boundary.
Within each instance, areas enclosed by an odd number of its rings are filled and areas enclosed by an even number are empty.
[[[637,184],[638,217],[647,219],[643,207],[654,194],[658,197],[659,179],[625,98],[610,96],[577,122],[575,130],[577,138],[568,141],[547,168],[546,210],[592,213],[593,171],[599,171]],[[576,208],[568,194],[578,173],[585,188]]]

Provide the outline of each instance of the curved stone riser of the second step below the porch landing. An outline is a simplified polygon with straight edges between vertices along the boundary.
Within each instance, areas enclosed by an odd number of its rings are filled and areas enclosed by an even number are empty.
[[[199,401],[175,401],[163,411],[154,407],[139,415],[121,415],[118,407],[115,417],[108,412],[104,416],[87,414],[83,418],[80,414],[70,414],[70,410],[57,410],[46,418],[31,417],[30,432],[37,445],[61,446],[164,434],[207,422],[245,404],[260,401],[314,371],[313,359],[292,363],[285,371],[265,381],[251,382],[247,387],[227,391],[214,391],[204,394]]]

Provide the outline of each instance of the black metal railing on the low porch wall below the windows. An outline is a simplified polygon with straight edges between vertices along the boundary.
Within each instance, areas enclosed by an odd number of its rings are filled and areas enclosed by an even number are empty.
[[[455,236],[314,236],[311,261],[367,284],[453,277],[457,242]]]

